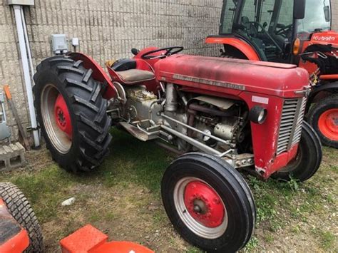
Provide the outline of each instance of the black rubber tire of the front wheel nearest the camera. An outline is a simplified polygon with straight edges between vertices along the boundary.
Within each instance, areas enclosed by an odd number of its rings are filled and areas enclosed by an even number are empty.
[[[178,213],[175,189],[189,177],[208,184],[223,202],[227,226],[215,237],[200,236]],[[254,231],[256,208],[250,188],[239,172],[215,156],[189,153],[171,163],[163,175],[162,200],[170,221],[183,239],[208,252],[236,252],[245,247]],[[184,208],[181,215],[188,213],[186,205]]]

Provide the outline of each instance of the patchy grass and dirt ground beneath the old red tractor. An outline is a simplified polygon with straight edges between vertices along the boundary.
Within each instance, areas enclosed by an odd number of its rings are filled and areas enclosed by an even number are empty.
[[[31,151],[29,166],[0,173],[18,185],[43,228],[46,252],[85,224],[113,240],[144,244],[155,252],[200,252],[180,239],[163,209],[160,180],[173,155],[113,131],[111,155],[96,172],[61,170],[48,150]],[[262,182],[245,175],[257,204],[255,234],[243,252],[338,252],[338,150],[324,148],[322,166],[311,180]],[[73,205],[61,202],[76,197]]]

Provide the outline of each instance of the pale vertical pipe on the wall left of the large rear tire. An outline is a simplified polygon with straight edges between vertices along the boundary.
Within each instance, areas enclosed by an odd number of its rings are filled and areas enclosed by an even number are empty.
[[[27,60],[27,50],[26,50],[26,43],[25,43],[25,36],[24,36],[24,26],[23,26],[23,20],[21,16],[22,6],[14,5],[13,8],[14,8],[15,21],[16,21],[16,29],[18,31],[22,68],[24,70],[24,82],[26,85],[26,93],[27,93],[27,98],[28,98],[28,103],[29,103],[29,117],[31,119],[31,128],[33,130],[34,148],[39,148],[40,146],[39,130],[37,128],[38,125],[36,123],[33,91],[32,91],[32,86],[31,86],[31,76],[29,74],[29,62]]]

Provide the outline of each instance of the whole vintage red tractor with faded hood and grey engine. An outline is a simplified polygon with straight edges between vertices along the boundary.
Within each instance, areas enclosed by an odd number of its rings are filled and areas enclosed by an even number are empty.
[[[183,47],[133,48],[107,63],[82,53],[37,67],[35,105],[47,148],[73,172],[108,155],[111,125],[185,153],[163,175],[165,211],[201,249],[235,252],[249,242],[256,209],[236,169],[304,181],[322,160],[317,133],[303,121],[310,92],[302,68],[179,54]]]

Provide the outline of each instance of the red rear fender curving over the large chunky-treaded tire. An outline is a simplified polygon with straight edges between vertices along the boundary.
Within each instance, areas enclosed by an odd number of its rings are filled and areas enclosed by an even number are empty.
[[[108,74],[97,61],[84,53],[68,53],[68,56],[75,61],[83,61],[83,66],[85,68],[91,68],[93,71],[93,78],[95,80],[100,81],[101,83],[106,83],[107,87],[106,91],[103,93],[103,98],[109,100],[117,97],[118,91],[116,90],[116,87],[113,85],[111,78],[109,78]]]

